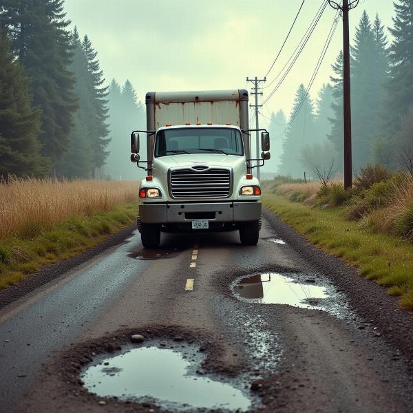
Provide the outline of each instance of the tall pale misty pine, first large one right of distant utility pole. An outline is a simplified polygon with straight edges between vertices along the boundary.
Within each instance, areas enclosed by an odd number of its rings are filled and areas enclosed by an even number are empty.
[[[314,143],[313,102],[302,84],[295,95],[290,122],[292,123],[282,142],[283,153],[279,172],[282,175],[301,178],[304,170],[299,161],[299,153],[305,145]]]

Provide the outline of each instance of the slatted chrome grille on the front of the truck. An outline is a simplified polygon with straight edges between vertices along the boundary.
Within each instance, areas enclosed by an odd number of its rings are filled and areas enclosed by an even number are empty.
[[[231,171],[228,169],[178,169],[170,173],[173,198],[227,198],[231,191]]]

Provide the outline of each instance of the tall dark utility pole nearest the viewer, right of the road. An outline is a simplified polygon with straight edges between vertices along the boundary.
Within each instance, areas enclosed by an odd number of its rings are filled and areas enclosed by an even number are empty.
[[[352,187],[351,149],[351,81],[350,81],[350,30],[349,11],[356,8],[359,0],[343,0],[342,4],[328,0],[330,6],[343,14],[343,109],[344,109],[344,188]]]

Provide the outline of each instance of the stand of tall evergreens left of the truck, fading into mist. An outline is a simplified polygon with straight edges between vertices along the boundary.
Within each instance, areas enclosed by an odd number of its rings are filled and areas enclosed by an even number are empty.
[[[109,151],[127,142],[127,131],[114,134],[109,123],[138,110],[134,89],[125,83],[123,109],[109,104],[112,89],[97,52],[87,35],[68,30],[63,6],[64,0],[0,0],[3,178],[109,178]],[[118,162],[125,164],[127,153]]]

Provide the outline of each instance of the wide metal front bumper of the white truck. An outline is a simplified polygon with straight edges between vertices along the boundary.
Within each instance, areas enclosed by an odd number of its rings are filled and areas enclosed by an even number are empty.
[[[261,202],[211,202],[206,204],[140,204],[139,217],[144,224],[182,224],[193,220],[211,222],[257,221]]]

